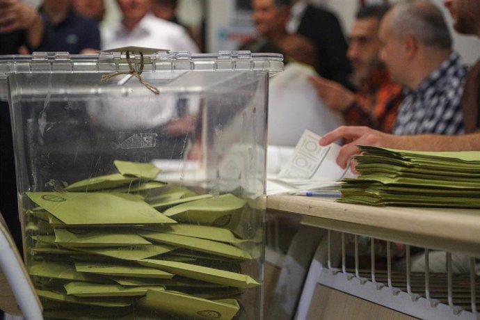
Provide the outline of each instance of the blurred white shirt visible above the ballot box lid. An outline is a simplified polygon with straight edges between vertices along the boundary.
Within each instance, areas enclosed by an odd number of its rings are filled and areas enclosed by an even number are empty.
[[[151,13],[145,15],[132,31],[128,31],[121,22],[113,28],[102,29],[102,49],[127,46],[190,51],[193,54],[200,52],[184,27]]]

